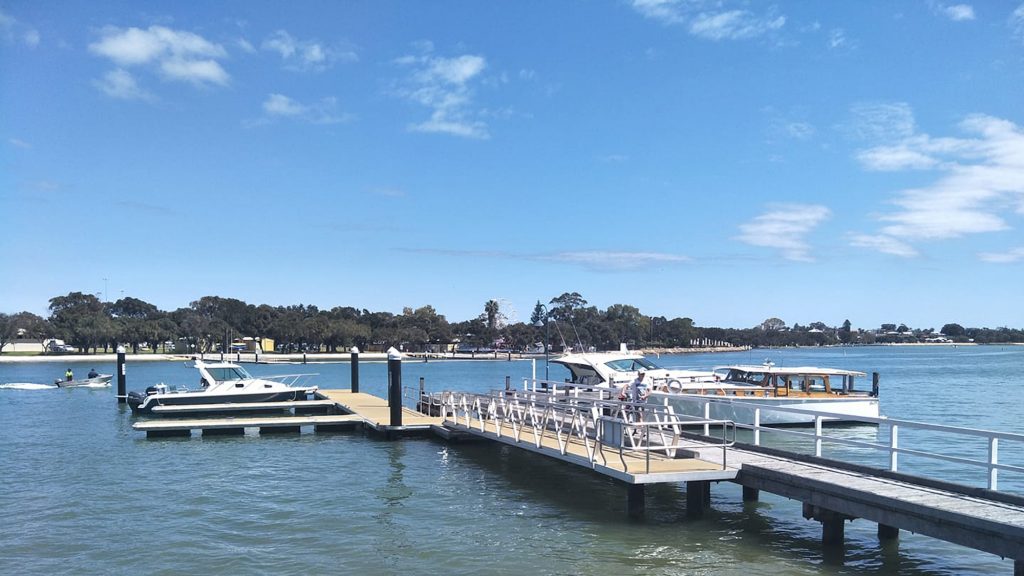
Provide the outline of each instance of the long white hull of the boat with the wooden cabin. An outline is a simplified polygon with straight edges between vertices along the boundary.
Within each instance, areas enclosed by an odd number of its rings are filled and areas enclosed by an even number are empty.
[[[825,398],[753,398],[720,397],[688,394],[654,394],[656,402],[668,402],[677,414],[705,416],[705,404],[710,404],[710,416],[716,420],[732,420],[737,424],[753,425],[755,412],[760,408],[763,426],[813,424],[816,414],[785,412],[772,408],[798,408],[827,413],[826,422],[857,422],[863,418],[879,417],[879,399],[873,397]]]

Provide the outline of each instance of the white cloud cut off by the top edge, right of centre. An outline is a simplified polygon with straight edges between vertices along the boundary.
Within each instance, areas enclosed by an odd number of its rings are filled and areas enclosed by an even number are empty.
[[[666,25],[686,26],[688,32],[709,40],[745,40],[777,31],[785,16],[758,15],[749,10],[725,9],[726,2],[701,0],[633,0],[633,9]]]

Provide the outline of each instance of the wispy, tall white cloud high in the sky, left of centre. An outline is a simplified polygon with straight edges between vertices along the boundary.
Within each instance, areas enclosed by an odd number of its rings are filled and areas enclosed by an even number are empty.
[[[408,81],[396,93],[431,111],[429,120],[410,126],[411,130],[468,138],[489,137],[486,123],[480,120],[484,111],[477,110],[473,101],[472,83],[481,78],[487,66],[483,56],[407,55],[395,64],[413,68]]]

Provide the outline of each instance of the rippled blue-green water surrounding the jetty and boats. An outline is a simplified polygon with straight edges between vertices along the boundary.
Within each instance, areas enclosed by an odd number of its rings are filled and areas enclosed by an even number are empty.
[[[664,357],[667,366],[819,365],[882,374],[890,417],[1024,433],[1022,346],[754,351]],[[384,442],[362,433],[146,440],[112,388],[43,385],[62,363],[0,364],[0,573],[31,574],[1009,574],[998,558],[876,526],[847,524],[845,559],[824,556],[820,525],[799,502],[762,493],[743,504],[716,485],[712,510],[685,519],[682,486],[647,491],[647,517],[626,518],[625,489],[553,460],[487,444]],[[114,372],[113,365],[74,364]],[[256,366],[318,372],[347,387],[347,364]],[[543,360],[538,363],[543,376]],[[486,390],[529,376],[528,362],[403,365],[428,389]],[[567,375],[552,366],[552,378]],[[128,367],[129,389],[194,384],[178,363]],[[385,366],[362,364],[361,389],[385,395]],[[27,384],[28,383],[28,384]],[[33,383],[39,385],[32,385]],[[864,382],[869,386],[869,377]],[[884,438],[869,427],[854,438]],[[948,439],[912,439],[926,449]],[[909,440],[901,431],[901,442]],[[783,442],[783,441],[780,441]],[[785,441],[792,442],[792,441]],[[929,446],[931,443],[931,446]],[[971,447],[964,447],[971,451]],[[1000,460],[1016,453],[1000,445]],[[865,455],[865,458],[873,455]],[[966,474],[901,460],[901,469]],[[1016,490],[1019,481],[1000,477]]]

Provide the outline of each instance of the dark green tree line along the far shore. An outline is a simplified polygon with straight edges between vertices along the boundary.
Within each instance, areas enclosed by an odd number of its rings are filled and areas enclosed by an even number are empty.
[[[352,306],[271,306],[204,296],[188,306],[165,312],[134,297],[104,302],[82,292],[50,298],[47,318],[29,312],[0,314],[0,354],[15,338],[40,342],[59,338],[86,353],[123,344],[137,354],[144,343],[156,352],[158,343],[164,342],[183,342],[186,349],[197,353],[226,351],[242,336],[272,338],[281,352],[337,352],[352,345],[364,351],[395,346],[409,352],[442,352],[453,345],[464,351],[540,352],[546,345],[557,353],[615,349],[623,342],[633,348],[713,343],[759,347],[935,340],[1024,342],[1024,331],[1019,329],[964,328],[954,323],[944,325],[940,332],[903,324],[854,330],[849,320],[836,327],[822,322],[788,326],[778,318],[752,328],[698,327],[690,318],[646,316],[629,304],[599,310],[588,305],[578,292],[563,293],[546,304],[538,301],[528,322],[514,323],[497,300],[484,302],[476,318],[449,322],[430,305],[392,314]]]

